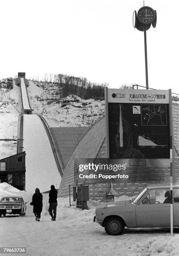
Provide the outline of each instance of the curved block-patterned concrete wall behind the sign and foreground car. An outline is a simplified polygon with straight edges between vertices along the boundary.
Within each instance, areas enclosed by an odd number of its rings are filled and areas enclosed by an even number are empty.
[[[173,102],[173,126],[174,126],[174,157],[175,157],[175,173],[174,182],[179,183],[179,104]],[[61,180],[58,195],[60,197],[69,195],[69,185],[76,185],[74,178],[74,159],[75,158],[105,158],[106,142],[105,142],[105,118],[99,120],[90,131],[81,139],[77,148],[66,164],[64,175]],[[146,184],[158,184],[170,182],[169,167],[130,167],[126,170],[126,174],[130,174],[130,180],[121,182],[120,180],[113,184],[113,189],[117,195],[135,196],[146,186]],[[92,179],[86,180],[86,183],[93,182]],[[105,195],[106,184],[94,183],[90,184],[90,198],[101,199]],[[72,191],[71,191],[72,192]]]

